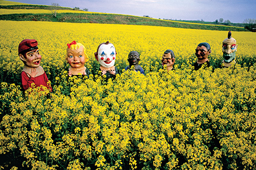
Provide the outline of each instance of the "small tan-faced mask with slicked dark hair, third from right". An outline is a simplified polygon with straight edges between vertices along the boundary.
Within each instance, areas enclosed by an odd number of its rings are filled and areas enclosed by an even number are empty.
[[[162,66],[166,65],[167,71],[174,70],[175,55],[172,50],[166,50],[162,56]]]

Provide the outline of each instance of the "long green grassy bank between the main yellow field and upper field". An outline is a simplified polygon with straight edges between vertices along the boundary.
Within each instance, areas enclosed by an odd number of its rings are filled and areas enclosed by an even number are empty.
[[[51,14],[6,14],[1,15],[0,20],[33,20],[38,21],[62,21],[62,22],[77,22],[89,23],[94,20],[98,23],[115,23],[125,25],[143,25],[143,26],[162,26],[174,28],[187,28],[187,29],[202,29],[202,30],[220,30],[220,31],[246,31],[244,28],[238,27],[225,27],[214,25],[195,25],[191,23],[181,23],[175,21],[166,21],[159,19],[152,19],[146,17],[136,17],[130,15],[117,15],[117,14],[78,14],[78,13],[58,13],[56,17]]]

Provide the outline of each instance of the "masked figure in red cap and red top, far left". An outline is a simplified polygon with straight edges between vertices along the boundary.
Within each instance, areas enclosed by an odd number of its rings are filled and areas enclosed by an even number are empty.
[[[18,45],[19,58],[24,62],[21,75],[22,85],[24,90],[27,90],[34,83],[36,87],[46,86],[52,91],[45,70],[40,66],[41,55],[39,54],[37,44],[37,41],[34,39],[24,39]]]

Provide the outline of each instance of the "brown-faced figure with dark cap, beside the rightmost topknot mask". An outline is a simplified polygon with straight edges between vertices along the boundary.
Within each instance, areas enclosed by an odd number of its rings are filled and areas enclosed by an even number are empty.
[[[206,63],[207,67],[210,66],[210,62],[208,59],[208,56],[211,54],[210,44],[208,44],[207,42],[201,42],[197,45],[195,54],[197,56],[197,62],[193,64],[195,70],[201,68],[204,63]]]

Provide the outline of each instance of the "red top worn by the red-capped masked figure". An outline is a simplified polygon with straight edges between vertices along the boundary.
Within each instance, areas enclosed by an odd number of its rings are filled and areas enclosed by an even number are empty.
[[[48,78],[46,76],[46,73],[37,76],[37,77],[28,77],[27,73],[25,71],[22,71],[22,86],[24,90],[27,90],[29,87],[31,87],[31,84],[34,83],[37,87],[40,87],[40,85],[46,86],[50,91],[52,91],[52,87],[47,85]]]

